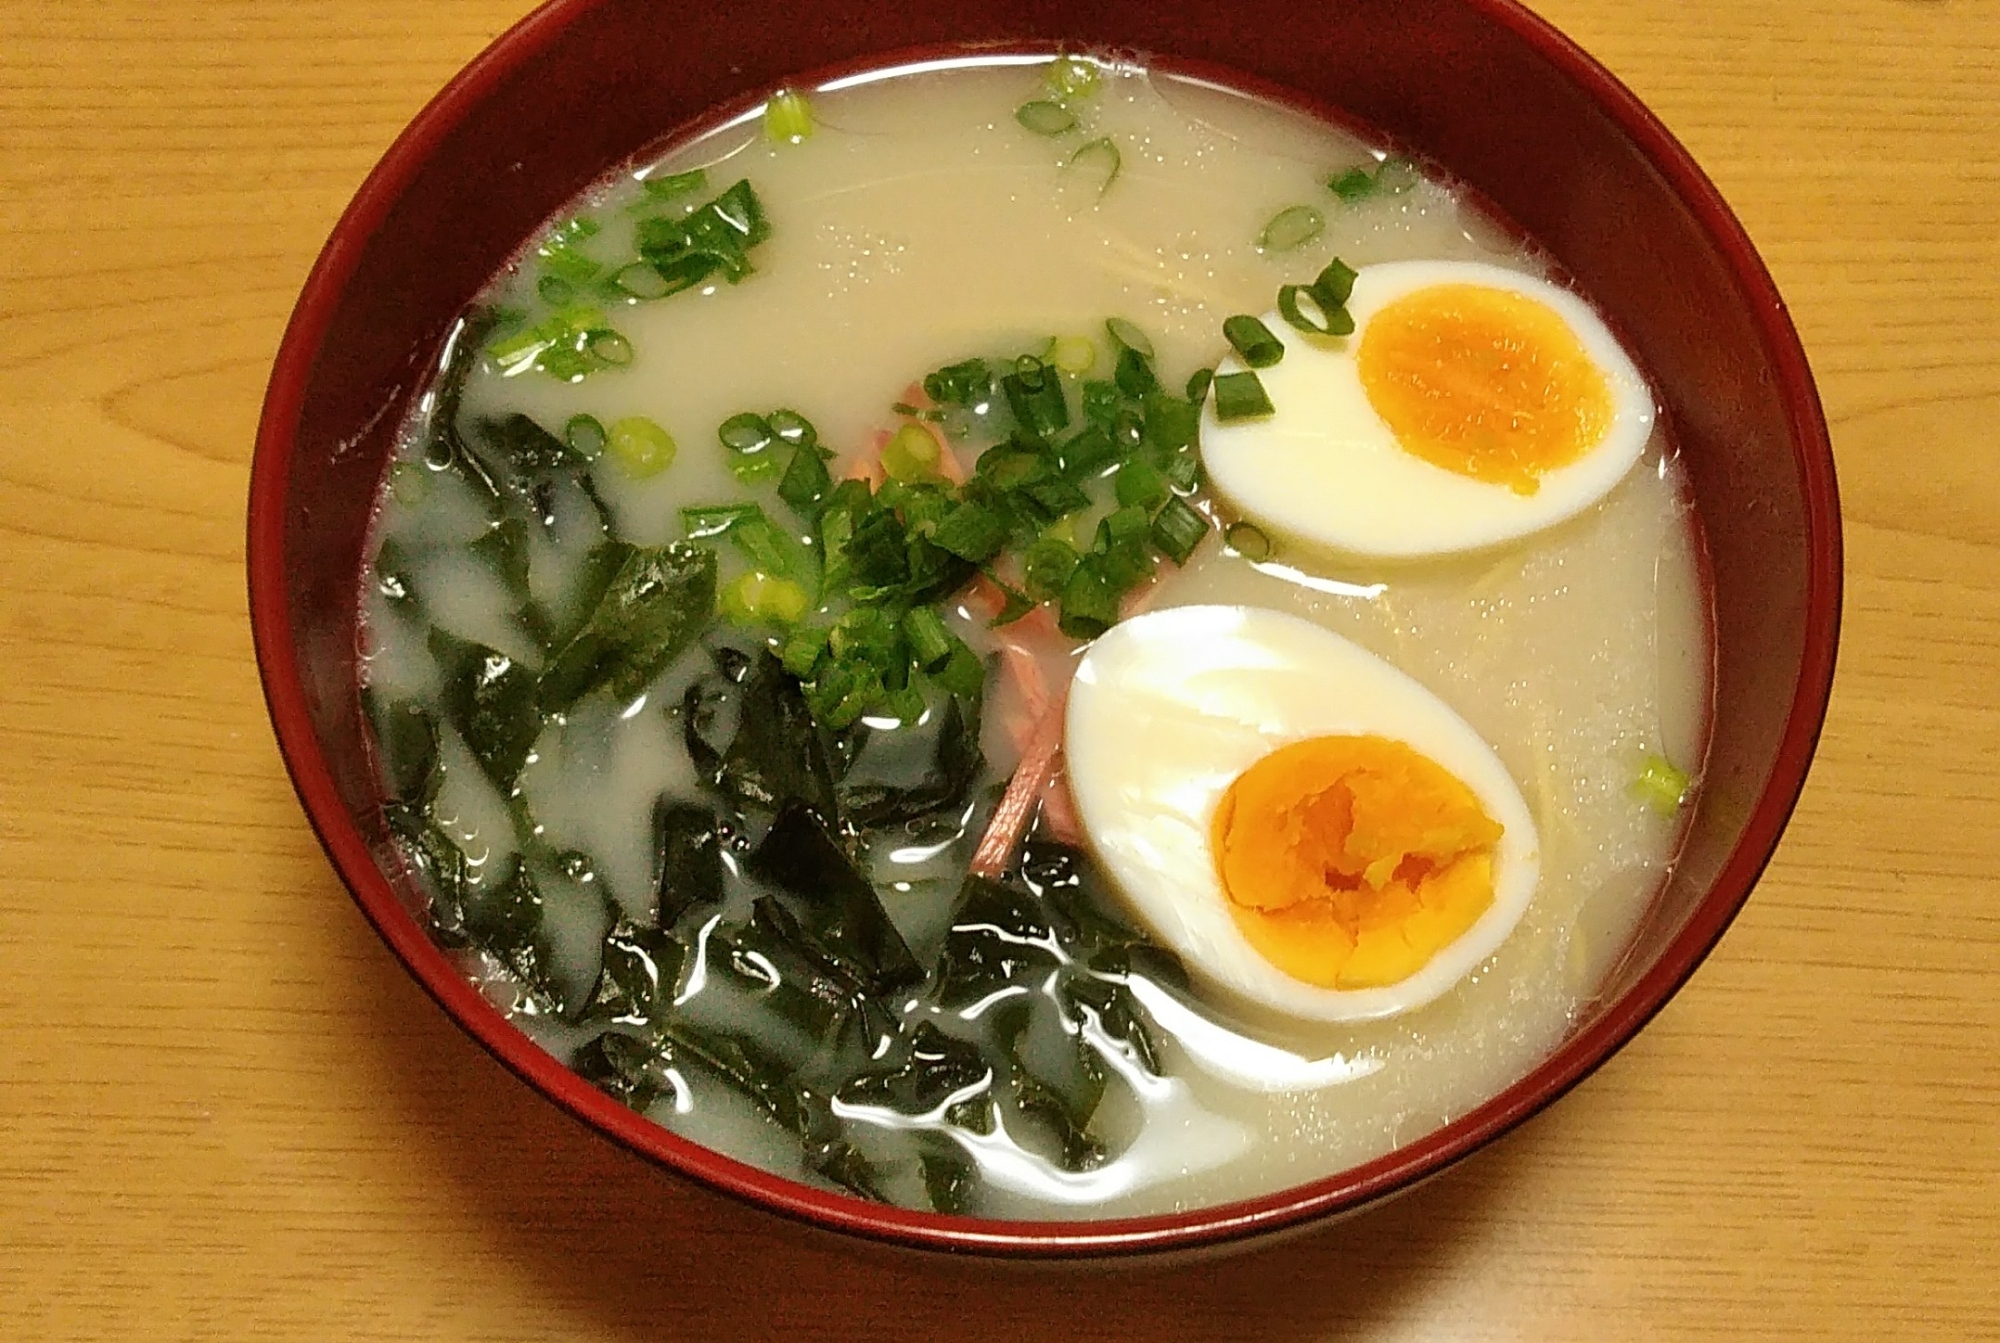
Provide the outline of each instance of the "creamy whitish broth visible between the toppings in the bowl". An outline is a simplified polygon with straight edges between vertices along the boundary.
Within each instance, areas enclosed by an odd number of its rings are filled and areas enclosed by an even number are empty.
[[[772,144],[750,122],[676,150],[654,172],[710,166],[714,188],[738,176],[754,182],[774,230],[756,250],[756,274],[618,310],[634,350],[626,370],[562,384],[482,368],[468,382],[466,414],[526,412],[550,428],[578,412],[604,424],[644,414],[666,426],[678,440],[670,470],[644,482],[596,474],[622,538],[658,546],[682,536],[682,506],[742,494],[716,426],[744,410],[796,408],[848,454],[870,432],[894,428],[890,406],[926,372],[1050,336],[1096,336],[1102,350],[1110,316],[1144,328],[1162,380],[1178,388],[1224,354],[1224,318],[1268,312],[1278,284],[1310,278],[1334,256],[1354,266],[1466,258],[1546,272],[1430,180],[1342,206],[1324,186],[1328,174],[1374,152],[1338,130],[1134,68],[1106,70],[1096,96],[1092,134],[1122,150],[1122,170],[1098,200],[1094,184],[1064,180],[1074,138],[1054,142],[1014,120],[1036,96],[1038,74],[986,66],[862,82],[814,94],[818,132],[804,144]],[[630,218],[620,202],[634,190],[620,178],[580,202],[602,206],[606,256],[622,246],[612,234]],[[1258,232],[1294,202],[1324,212],[1324,234],[1298,252],[1260,254]],[[502,278],[500,298],[518,284]],[[536,666],[540,652],[504,594],[454,550],[478,536],[476,510],[454,498],[454,480],[422,474],[414,458],[412,446],[390,476],[378,540],[428,556],[418,582],[440,626]],[[1564,1039],[1674,855],[1676,821],[1638,805],[1632,779],[1650,755],[1694,769],[1704,751],[1708,632],[1684,498],[1656,438],[1604,504],[1500,550],[1394,568],[1280,550],[1252,564],[1210,532],[1186,568],[1162,566],[1154,606],[1304,616],[1448,701],[1494,745],[1534,813],[1540,887],[1498,953],[1400,1017],[1224,1025],[1142,987],[1170,1077],[1134,1071],[1132,1085],[1108,1089],[1094,1133],[1110,1159],[1060,1175],[1000,1135],[978,1139],[976,1211],[1116,1217],[1270,1193],[1466,1113]],[[562,550],[560,526],[556,534],[532,562],[540,592],[562,592],[574,578],[576,556]],[[436,695],[422,626],[374,588],[364,622],[370,685],[418,701]],[[654,703],[678,701],[694,658],[700,650],[662,673]],[[994,763],[1010,763],[994,753]],[[514,851],[506,801],[456,737],[442,759],[446,829],[470,859],[504,861]],[[644,919],[654,799],[698,795],[678,729],[660,713],[584,703],[542,733],[520,787],[552,845],[590,853],[590,879]],[[910,861],[904,875],[928,875]],[[610,909],[560,873],[542,877],[558,977],[588,979]],[[954,885],[916,879],[904,895],[890,891],[912,945],[936,945]],[[492,965],[470,969],[496,975]],[[522,1025],[558,1053],[576,1043],[560,1019]],[[804,1177],[796,1143],[740,1097],[698,1093],[690,1103],[676,1093],[648,1113]]]

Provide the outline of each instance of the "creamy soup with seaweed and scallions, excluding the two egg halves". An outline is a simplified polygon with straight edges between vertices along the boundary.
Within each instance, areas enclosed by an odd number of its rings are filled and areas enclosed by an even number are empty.
[[[574,202],[390,466],[364,685],[440,943],[658,1123],[942,1211],[1268,1193],[1526,1073],[1660,885],[1704,753],[1670,446],[1522,540],[1372,562],[1234,514],[1196,416],[1224,320],[1336,256],[1546,266],[1446,182],[1160,72],[988,60],[808,98]],[[1002,480],[1088,430],[1102,464]],[[1448,991],[1258,1007],[1098,863],[1064,687],[1090,636],[1178,606],[1336,632],[1490,743],[1540,879]]]

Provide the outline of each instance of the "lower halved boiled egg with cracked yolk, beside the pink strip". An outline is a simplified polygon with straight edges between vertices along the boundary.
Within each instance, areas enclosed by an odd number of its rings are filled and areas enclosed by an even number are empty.
[[[1134,616],[1084,654],[1064,727],[1078,817],[1134,913],[1252,1003],[1308,1021],[1420,1007],[1534,895],[1534,819],[1494,749],[1296,616]]]

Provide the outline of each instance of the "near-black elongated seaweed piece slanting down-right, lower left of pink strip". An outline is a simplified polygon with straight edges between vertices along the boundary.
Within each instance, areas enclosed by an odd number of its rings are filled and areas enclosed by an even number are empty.
[[[750,855],[750,871],[784,889],[806,931],[842,963],[858,967],[870,989],[886,993],[924,977],[874,887],[812,807],[792,801],[778,813]]]

